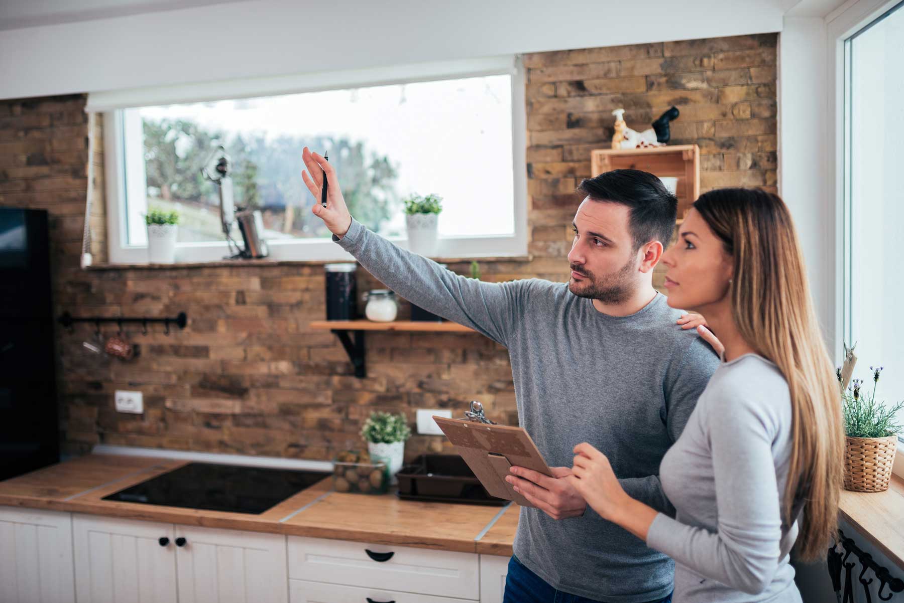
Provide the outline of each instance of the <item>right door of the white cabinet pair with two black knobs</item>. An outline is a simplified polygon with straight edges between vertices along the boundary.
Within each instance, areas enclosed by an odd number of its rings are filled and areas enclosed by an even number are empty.
[[[286,536],[188,525],[175,536],[179,603],[286,603]]]

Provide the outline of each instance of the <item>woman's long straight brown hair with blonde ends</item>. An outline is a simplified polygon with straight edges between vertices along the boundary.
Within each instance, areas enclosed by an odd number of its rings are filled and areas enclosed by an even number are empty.
[[[843,419],[791,214],[777,195],[752,189],[712,190],[693,207],[733,258],[731,313],[740,336],[787,381],[792,449],[782,523],[798,519],[801,559],[822,558],[838,527]]]

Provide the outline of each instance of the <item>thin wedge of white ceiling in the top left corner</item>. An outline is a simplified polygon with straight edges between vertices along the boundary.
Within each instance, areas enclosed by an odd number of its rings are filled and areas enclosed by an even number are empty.
[[[0,31],[132,14],[221,5],[240,0],[0,0]]]

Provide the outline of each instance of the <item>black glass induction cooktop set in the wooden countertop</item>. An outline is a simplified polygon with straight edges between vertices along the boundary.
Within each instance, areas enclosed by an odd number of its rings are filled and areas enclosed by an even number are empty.
[[[328,471],[189,463],[104,500],[259,515],[328,475]]]

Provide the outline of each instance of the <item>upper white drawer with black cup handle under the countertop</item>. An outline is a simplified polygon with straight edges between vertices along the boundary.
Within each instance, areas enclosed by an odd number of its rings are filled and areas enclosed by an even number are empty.
[[[476,600],[479,576],[477,555],[470,552],[288,538],[288,577],[295,580]]]

